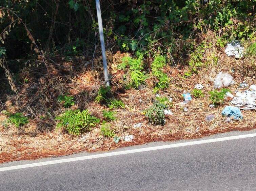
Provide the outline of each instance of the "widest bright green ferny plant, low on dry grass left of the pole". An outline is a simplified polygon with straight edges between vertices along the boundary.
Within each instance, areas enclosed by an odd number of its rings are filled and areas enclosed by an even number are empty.
[[[66,110],[56,117],[58,124],[56,129],[64,128],[70,135],[80,135],[84,131],[90,131],[100,120],[92,116],[89,111]]]

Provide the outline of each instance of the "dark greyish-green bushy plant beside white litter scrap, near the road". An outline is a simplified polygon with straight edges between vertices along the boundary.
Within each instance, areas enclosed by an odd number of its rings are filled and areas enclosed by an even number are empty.
[[[167,109],[166,105],[155,102],[146,110],[145,116],[148,118],[149,122],[154,125],[164,125],[164,109]]]

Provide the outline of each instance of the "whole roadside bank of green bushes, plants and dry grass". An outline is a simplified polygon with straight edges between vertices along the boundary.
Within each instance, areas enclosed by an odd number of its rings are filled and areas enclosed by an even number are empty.
[[[255,128],[254,110],[242,121],[221,114],[227,92],[256,84],[255,5],[101,1],[106,87],[94,1],[4,0],[0,162]],[[243,56],[225,54],[237,42]],[[235,83],[214,88],[220,71]]]

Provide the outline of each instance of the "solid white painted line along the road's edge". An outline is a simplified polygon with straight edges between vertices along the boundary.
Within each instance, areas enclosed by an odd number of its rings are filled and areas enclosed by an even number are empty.
[[[139,152],[145,152],[145,151],[155,151],[155,150],[165,149],[165,148],[174,148],[174,147],[180,147],[180,146],[189,146],[189,145],[212,143],[212,142],[219,142],[219,141],[228,141],[228,140],[242,139],[242,138],[249,138],[249,137],[256,137],[256,133],[246,134],[246,135],[230,136],[230,137],[222,137],[222,138],[215,138],[215,139],[205,139],[205,140],[200,140],[200,141],[191,141],[191,142],[183,142],[183,143],[176,143],[176,144],[168,144],[168,145],[161,145],[161,146],[153,146],[153,147],[146,147],[146,148],[137,148],[137,149],[127,150],[127,151],[110,152],[110,153],[89,155],[89,156],[83,156],[83,157],[74,157],[74,158],[68,158],[68,159],[59,159],[59,160],[53,160],[53,161],[23,164],[23,165],[17,165],[17,166],[8,166],[8,167],[0,168],[0,171],[16,170],[16,169],[21,169],[21,168],[30,168],[30,167],[44,166],[44,165],[50,165],[50,164],[59,164],[59,163],[65,163],[65,162],[96,159],[96,158],[102,158],[102,157],[125,155],[125,154],[139,153]]]

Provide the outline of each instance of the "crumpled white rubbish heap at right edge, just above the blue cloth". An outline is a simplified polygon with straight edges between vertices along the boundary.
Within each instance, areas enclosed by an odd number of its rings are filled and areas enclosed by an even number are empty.
[[[256,107],[256,86],[251,85],[248,90],[236,92],[236,96],[231,103],[240,109],[254,109]]]

